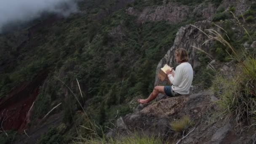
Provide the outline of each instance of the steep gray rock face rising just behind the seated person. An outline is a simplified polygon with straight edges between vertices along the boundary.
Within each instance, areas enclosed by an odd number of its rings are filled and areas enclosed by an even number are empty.
[[[210,27],[211,22],[210,21],[199,21],[196,22],[194,25],[200,29],[208,29]],[[160,85],[161,82],[157,77],[157,74],[161,67],[163,67],[165,64],[168,64],[172,67],[176,67],[177,63],[175,61],[175,50],[178,48],[184,48],[189,53],[189,63],[192,65],[193,68],[200,66],[200,61],[197,56],[197,51],[192,46],[195,46],[197,48],[201,48],[204,51],[209,51],[209,48],[213,44],[212,42],[205,43],[205,45],[202,45],[205,40],[207,40],[207,37],[200,32],[197,28],[186,25],[184,27],[181,27],[179,31],[176,34],[176,38],[174,40],[173,46],[167,51],[163,59],[160,60],[160,62],[157,65],[156,69],[156,77],[155,77],[155,85]]]

